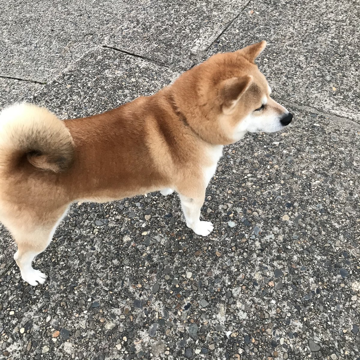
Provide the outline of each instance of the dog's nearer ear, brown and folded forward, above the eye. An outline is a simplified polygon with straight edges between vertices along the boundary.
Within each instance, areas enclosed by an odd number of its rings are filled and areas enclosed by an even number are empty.
[[[252,82],[251,75],[224,80],[221,87],[222,111],[230,114]]]

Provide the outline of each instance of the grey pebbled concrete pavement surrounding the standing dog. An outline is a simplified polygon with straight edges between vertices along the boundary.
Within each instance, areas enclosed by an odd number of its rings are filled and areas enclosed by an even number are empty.
[[[359,5],[80,1],[40,17],[46,4],[8,5],[0,76],[47,84],[0,78],[1,107],[88,116],[266,39],[259,67],[294,121],[225,147],[207,238],[176,194],[74,204],[33,288],[0,225],[0,359],[360,359]]]

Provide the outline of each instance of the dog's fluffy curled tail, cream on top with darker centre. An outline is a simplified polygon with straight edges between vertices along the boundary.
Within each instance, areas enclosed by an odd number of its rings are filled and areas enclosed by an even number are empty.
[[[18,103],[0,113],[0,169],[15,170],[28,161],[36,168],[66,170],[74,145],[64,122],[48,109]]]

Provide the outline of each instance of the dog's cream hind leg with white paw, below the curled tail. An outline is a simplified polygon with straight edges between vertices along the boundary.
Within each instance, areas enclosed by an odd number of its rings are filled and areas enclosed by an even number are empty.
[[[19,266],[22,279],[30,285],[43,284],[47,278],[47,275],[41,271],[33,269],[31,262],[36,255],[44,251],[49,245],[54,231],[66,211],[67,208],[53,214],[51,216],[52,221],[46,224],[32,224],[28,229],[14,225],[8,226],[18,246],[14,259]]]

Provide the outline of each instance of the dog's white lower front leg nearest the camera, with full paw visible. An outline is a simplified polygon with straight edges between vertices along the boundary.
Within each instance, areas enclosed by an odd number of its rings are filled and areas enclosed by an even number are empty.
[[[186,220],[186,226],[192,229],[195,234],[201,236],[209,235],[214,226],[210,221],[200,221],[200,210],[204,203],[205,194],[202,197],[193,198],[179,194],[179,197]]]

